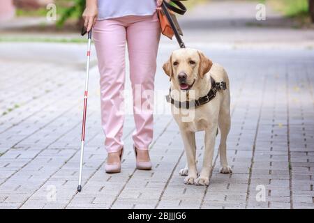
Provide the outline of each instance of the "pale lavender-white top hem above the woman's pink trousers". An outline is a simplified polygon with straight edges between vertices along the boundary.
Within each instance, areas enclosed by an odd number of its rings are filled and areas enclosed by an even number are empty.
[[[98,0],[98,20],[126,15],[153,15],[156,0]]]

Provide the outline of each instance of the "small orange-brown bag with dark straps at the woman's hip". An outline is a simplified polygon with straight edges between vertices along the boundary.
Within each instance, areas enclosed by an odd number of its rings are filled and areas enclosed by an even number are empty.
[[[184,1],[184,0],[181,0],[181,1]],[[170,22],[167,19],[163,10],[168,10],[168,12],[172,18],[172,22],[174,23],[175,29],[177,29],[178,33],[181,36],[183,36],[183,33],[182,33],[181,28],[179,26],[179,23],[177,21],[177,17],[174,13],[178,13],[181,15],[184,15],[184,13],[186,13],[186,8],[185,8],[184,4],[182,4],[180,2],[180,0],[172,0],[172,2],[175,3],[177,6],[179,6],[179,8],[176,8],[176,7],[172,6],[170,3],[163,1],[163,5],[165,7],[157,10],[158,18],[159,18],[159,22],[160,22],[161,33],[163,33],[164,36],[167,36],[167,38],[170,38],[171,40],[172,40],[172,37],[174,36],[174,31],[173,31],[172,26],[170,25]]]

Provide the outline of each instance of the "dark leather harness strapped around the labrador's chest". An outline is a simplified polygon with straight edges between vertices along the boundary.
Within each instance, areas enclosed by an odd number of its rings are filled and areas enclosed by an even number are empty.
[[[174,100],[173,98],[171,98],[171,95],[170,95],[171,89],[169,89],[169,95],[166,95],[165,97],[166,97],[167,102],[171,103],[177,108],[190,109],[190,108],[200,107],[201,105],[204,105],[210,102],[216,97],[217,91],[225,90],[225,89],[227,89],[227,85],[225,84],[225,82],[216,82],[214,78],[211,77],[211,89],[209,90],[207,95],[204,95],[198,98],[197,100],[190,100],[190,101],[185,101],[185,102]]]

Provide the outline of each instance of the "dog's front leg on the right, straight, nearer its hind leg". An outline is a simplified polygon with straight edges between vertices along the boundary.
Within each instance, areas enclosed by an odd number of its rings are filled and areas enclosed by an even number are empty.
[[[213,168],[214,147],[217,125],[205,130],[205,150],[203,155],[203,166],[200,176],[195,180],[195,185],[209,185],[209,174]]]

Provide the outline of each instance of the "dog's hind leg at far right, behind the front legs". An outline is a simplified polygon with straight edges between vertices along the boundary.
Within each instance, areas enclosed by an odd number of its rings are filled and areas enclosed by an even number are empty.
[[[229,108],[229,107],[228,107]],[[219,145],[219,155],[220,155],[220,173],[230,174],[232,173],[231,167],[227,163],[227,135],[230,131],[230,109],[222,108],[220,109],[218,125],[220,128],[220,145]]]

